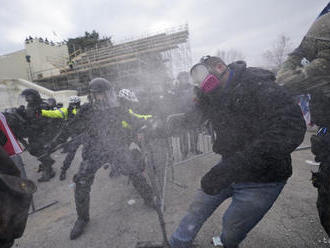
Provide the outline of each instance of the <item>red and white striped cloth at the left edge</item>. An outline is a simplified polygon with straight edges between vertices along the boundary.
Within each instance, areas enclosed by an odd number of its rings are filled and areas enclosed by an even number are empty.
[[[14,134],[10,130],[5,116],[0,113],[0,130],[6,136],[6,140],[3,149],[7,152],[9,156],[22,153],[22,148],[18,144]]]

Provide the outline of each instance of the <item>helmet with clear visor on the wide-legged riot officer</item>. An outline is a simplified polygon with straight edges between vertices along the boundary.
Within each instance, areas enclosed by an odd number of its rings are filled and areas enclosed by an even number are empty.
[[[113,85],[104,78],[94,78],[89,82],[89,99],[93,107],[107,109],[118,107],[119,102]]]

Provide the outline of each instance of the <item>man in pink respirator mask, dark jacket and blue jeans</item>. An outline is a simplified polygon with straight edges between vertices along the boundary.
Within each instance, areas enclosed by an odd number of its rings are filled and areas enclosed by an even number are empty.
[[[290,153],[303,141],[306,126],[295,101],[274,83],[273,73],[227,66],[206,56],[191,69],[200,85],[196,110],[169,120],[169,127],[209,120],[216,132],[214,152],[222,155],[201,180],[202,190],[173,233],[171,247],[191,247],[203,223],[227,198],[221,241],[238,247],[263,218],[292,174]],[[193,121],[191,121],[193,120]]]

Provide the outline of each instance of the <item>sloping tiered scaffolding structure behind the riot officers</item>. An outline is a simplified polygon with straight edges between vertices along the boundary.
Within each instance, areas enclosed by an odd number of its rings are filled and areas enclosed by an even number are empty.
[[[104,77],[120,88],[161,88],[191,67],[189,28],[182,25],[108,46],[96,45],[73,61],[73,68],[37,82],[53,90],[79,90],[91,78]]]

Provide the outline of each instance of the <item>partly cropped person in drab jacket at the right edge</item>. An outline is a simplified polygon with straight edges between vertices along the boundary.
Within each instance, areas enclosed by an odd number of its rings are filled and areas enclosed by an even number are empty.
[[[320,127],[311,137],[312,152],[315,161],[321,163],[318,173],[313,173],[313,185],[318,189],[321,224],[330,237],[330,3],[289,54],[277,82],[292,95],[311,95],[311,121]]]

